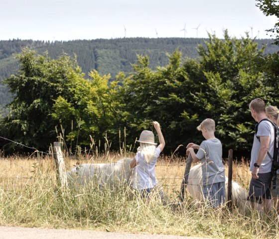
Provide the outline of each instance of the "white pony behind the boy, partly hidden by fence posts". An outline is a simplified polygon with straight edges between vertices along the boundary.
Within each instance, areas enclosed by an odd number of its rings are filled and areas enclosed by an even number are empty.
[[[228,178],[226,177],[226,189],[228,188]],[[201,164],[198,164],[190,169],[188,177],[187,190],[191,197],[197,201],[203,201],[202,194],[202,170]],[[240,208],[245,209],[249,207],[249,202],[247,201],[248,192],[242,188],[238,183],[232,183],[232,201]],[[226,190],[226,200],[228,200],[227,190]]]

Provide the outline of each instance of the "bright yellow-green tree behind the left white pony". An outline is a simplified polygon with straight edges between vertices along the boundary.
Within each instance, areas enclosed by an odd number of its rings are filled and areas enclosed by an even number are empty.
[[[66,140],[89,146],[90,135],[98,141],[104,140],[105,134],[111,142],[118,142],[121,113],[118,81],[109,84],[110,75],[100,76],[93,70],[90,80],[81,75],[70,75],[72,79],[66,84],[67,94],[54,100],[52,116],[64,129]],[[71,129],[71,121],[79,124]]]

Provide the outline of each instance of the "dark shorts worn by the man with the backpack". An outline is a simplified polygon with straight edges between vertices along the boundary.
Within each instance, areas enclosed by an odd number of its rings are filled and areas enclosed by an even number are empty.
[[[262,199],[271,199],[272,173],[258,174],[259,179],[251,179],[248,200],[262,204]]]

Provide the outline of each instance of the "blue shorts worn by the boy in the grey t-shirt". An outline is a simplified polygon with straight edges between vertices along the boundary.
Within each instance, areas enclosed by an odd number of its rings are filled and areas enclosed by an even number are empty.
[[[225,182],[204,185],[202,193],[212,208],[217,208],[226,202]]]

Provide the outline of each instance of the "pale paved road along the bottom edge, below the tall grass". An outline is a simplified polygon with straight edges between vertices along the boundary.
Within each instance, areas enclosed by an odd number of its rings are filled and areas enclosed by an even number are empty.
[[[169,235],[0,227],[0,239],[203,239]],[[207,238],[208,239],[208,238]]]

